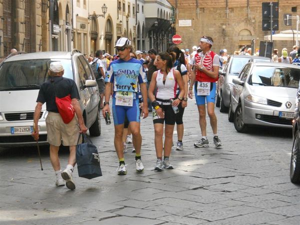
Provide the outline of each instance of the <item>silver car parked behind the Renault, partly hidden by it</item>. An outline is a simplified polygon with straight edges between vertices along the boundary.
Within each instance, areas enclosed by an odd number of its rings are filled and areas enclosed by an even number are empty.
[[[219,79],[216,89],[215,105],[220,112],[227,112],[229,107],[230,89],[233,86],[232,78],[237,77],[242,66],[248,61],[271,61],[272,59],[253,55],[230,55],[222,70],[219,70]]]

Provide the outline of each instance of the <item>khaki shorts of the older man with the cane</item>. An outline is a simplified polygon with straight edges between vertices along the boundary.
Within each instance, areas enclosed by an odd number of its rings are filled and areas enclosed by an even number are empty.
[[[69,123],[65,124],[59,113],[49,111],[46,117],[47,141],[49,144],[60,146],[62,141],[64,146],[77,145],[79,136],[77,123],[76,115]],[[81,136],[79,143],[81,143]]]

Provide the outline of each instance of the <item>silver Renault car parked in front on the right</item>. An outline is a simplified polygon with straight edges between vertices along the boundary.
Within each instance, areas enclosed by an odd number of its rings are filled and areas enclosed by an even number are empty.
[[[228,119],[238,132],[248,125],[291,128],[300,67],[274,62],[248,62],[232,79]]]

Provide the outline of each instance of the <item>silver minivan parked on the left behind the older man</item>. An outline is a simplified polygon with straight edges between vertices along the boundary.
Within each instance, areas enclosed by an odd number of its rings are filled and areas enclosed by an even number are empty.
[[[80,107],[89,134],[101,133],[99,92],[92,69],[83,54],[49,51],[15,53],[0,64],[0,146],[24,146],[36,143],[31,137],[33,112],[40,85],[48,77],[51,61],[61,61],[64,77],[76,82]],[[39,143],[46,142],[45,118],[48,112],[43,104],[38,121]]]

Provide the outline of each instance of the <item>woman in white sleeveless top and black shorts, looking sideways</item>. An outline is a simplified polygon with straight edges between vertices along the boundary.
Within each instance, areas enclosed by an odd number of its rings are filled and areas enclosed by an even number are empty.
[[[175,57],[175,53],[169,54],[167,52],[161,52],[157,55],[155,65],[159,70],[153,73],[148,89],[148,97],[154,108],[152,115],[155,136],[154,143],[157,157],[154,170],[157,171],[161,171],[163,168],[173,168],[169,161],[176,117],[172,105],[177,106],[184,96],[184,83],[181,74],[178,70],[172,69],[172,62]],[[180,93],[176,98],[177,84],[179,85]],[[153,92],[155,86],[157,87],[157,91],[154,96]],[[163,123],[165,123],[165,139],[164,144],[162,145]],[[163,160],[162,146],[164,146]]]

